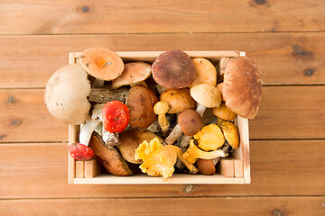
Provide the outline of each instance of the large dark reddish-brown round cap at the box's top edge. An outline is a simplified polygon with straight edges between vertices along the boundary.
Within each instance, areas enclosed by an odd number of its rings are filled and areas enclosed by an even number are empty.
[[[163,52],[153,62],[153,79],[166,88],[184,88],[193,83],[196,69],[190,56],[179,49]]]

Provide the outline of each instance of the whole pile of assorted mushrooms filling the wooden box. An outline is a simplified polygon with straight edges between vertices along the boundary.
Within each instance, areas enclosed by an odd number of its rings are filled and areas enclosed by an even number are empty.
[[[132,164],[164,180],[213,175],[218,159],[238,148],[236,115],[253,119],[262,90],[249,58],[221,58],[216,67],[179,49],[124,62],[90,48],[51,76],[44,101],[58,121],[81,126],[69,147],[75,159],[96,157],[113,175],[134,175]]]

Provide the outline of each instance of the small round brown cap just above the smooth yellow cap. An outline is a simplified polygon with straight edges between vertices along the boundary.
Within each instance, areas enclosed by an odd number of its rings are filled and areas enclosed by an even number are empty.
[[[202,127],[202,118],[200,114],[192,109],[181,112],[177,121],[181,127],[181,131],[187,136],[193,136],[198,133]]]

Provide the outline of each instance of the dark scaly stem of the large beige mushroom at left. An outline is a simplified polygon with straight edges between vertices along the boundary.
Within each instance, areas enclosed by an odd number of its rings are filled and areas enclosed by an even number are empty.
[[[116,100],[125,103],[128,92],[129,91],[126,87],[121,87],[115,90],[109,90],[105,88],[91,88],[90,94],[88,96],[88,101],[96,103],[107,103]]]

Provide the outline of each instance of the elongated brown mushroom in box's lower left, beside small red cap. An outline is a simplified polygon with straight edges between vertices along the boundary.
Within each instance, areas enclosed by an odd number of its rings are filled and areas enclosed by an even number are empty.
[[[106,146],[98,133],[94,132],[89,141],[89,147],[94,150],[99,163],[109,173],[119,176],[133,175],[131,169],[127,166],[116,148]]]

